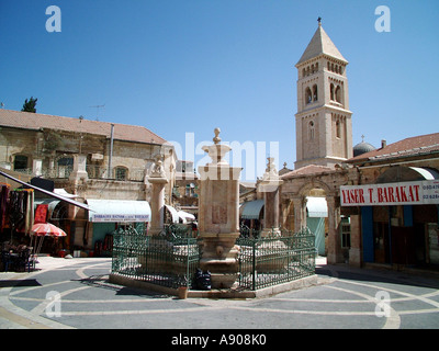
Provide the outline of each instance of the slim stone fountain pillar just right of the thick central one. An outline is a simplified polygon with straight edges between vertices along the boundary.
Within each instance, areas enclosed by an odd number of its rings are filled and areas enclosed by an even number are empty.
[[[263,230],[261,236],[280,235],[279,229],[279,205],[280,185],[283,181],[274,166],[274,158],[267,158],[268,165],[262,181],[259,184],[259,192],[263,193]]]

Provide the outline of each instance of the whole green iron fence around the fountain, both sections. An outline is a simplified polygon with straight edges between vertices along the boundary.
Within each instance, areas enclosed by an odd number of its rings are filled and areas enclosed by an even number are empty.
[[[177,288],[190,286],[200,268],[201,239],[172,227],[160,236],[134,228],[113,234],[112,273]],[[269,237],[243,236],[239,290],[268,287],[315,274],[315,237],[309,229]]]

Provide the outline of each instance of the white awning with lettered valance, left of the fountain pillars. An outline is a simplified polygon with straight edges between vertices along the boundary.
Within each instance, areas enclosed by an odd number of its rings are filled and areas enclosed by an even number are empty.
[[[88,199],[89,220],[93,223],[149,222],[150,207],[146,201]]]

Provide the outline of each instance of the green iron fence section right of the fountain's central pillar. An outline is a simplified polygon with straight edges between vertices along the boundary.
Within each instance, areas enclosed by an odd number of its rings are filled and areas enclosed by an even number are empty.
[[[315,237],[309,229],[263,238],[240,237],[239,287],[258,290],[315,274]]]

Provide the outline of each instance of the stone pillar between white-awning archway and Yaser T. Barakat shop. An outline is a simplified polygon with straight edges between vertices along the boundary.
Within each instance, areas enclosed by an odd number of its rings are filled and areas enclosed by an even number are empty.
[[[328,204],[328,257],[329,264],[344,262],[340,240],[340,199],[326,196]]]

